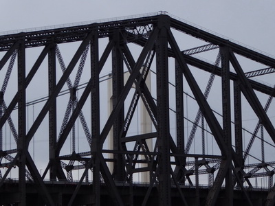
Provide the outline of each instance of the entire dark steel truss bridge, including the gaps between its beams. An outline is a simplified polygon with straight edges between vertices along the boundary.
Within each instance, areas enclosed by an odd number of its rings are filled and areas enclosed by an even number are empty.
[[[166,12],[1,35],[0,204],[274,205],[274,68]]]

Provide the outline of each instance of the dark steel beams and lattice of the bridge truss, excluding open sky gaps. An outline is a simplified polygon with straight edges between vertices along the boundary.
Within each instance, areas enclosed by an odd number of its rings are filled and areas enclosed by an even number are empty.
[[[205,44],[192,49],[181,51],[176,41],[174,31],[188,34]],[[107,45],[100,55],[100,39],[106,38]],[[80,42],[80,45],[67,67],[63,61],[59,45],[72,42]],[[135,59],[129,45],[135,43],[142,48]],[[183,43],[184,44],[184,43]],[[27,72],[25,52],[31,47],[43,47],[41,54],[34,62],[33,67]],[[211,64],[205,60],[195,58],[193,54],[218,50],[216,62]],[[263,135],[261,136],[262,159],[259,163],[246,163],[250,155],[250,149],[261,129],[265,130],[272,139],[270,144],[275,143],[275,130],[267,109],[275,95],[274,88],[256,82],[251,78],[274,72],[275,59],[265,56],[251,49],[232,43],[209,32],[199,30],[170,16],[159,13],[155,16],[144,16],[136,19],[109,21],[106,23],[93,23],[74,27],[43,30],[37,32],[25,32],[0,36],[0,52],[3,57],[0,60],[0,71],[8,65],[0,91],[0,165],[8,170],[0,170],[0,188],[8,179],[8,174],[13,167],[18,167],[18,191],[20,194],[19,205],[26,205],[27,182],[35,183],[39,188],[39,194],[43,196],[44,204],[56,205],[56,199],[45,186],[45,176],[50,176],[51,181],[73,181],[73,170],[80,170],[80,180],[69,199],[67,205],[73,205],[76,196],[87,179],[88,171],[92,172],[92,205],[100,205],[102,198],[102,185],[109,188],[109,196],[116,205],[134,205],[133,175],[135,173],[149,172],[150,179],[146,192],[142,198],[142,205],[148,203],[154,188],[157,188],[158,205],[172,205],[171,187],[176,187],[181,203],[178,205],[190,205],[186,201],[184,190],[185,184],[194,185],[196,188],[197,205],[215,205],[225,185],[224,204],[233,205],[234,188],[239,187],[243,191],[245,203],[252,204],[252,197],[248,194],[254,185],[250,179],[260,176],[269,177],[270,192],[265,200],[265,205],[274,205],[275,186],[272,176],[274,174],[274,161],[265,161]],[[89,56],[89,69],[91,76],[79,100],[76,91],[79,86],[80,76],[87,55]],[[39,111],[30,129],[26,129],[26,91],[32,79],[41,70],[41,64],[47,56],[47,82],[49,96]],[[107,121],[100,125],[100,75],[102,68],[107,64],[111,56],[112,76],[112,111]],[[243,56],[254,62],[266,65],[267,69],[257,69],[244,72],[237,56]],[[17,59],[17,93],[6,105],[6,89],[10,80],[12,68]],[[174,68],[170,68],[170,59],[175,60]],[[9,63],[8,63],[9,62]],[[60,78],[56,76],[57,62],[63,71]],[[77,67],[77,63],[79,66]],[[155,67],[156,98],[146,85],[146,78],[151,67]],[[206,91],[201,90],[199,84],[191,72],[192,69],[201,69],[210,73],[210,80]],[[142,68],[142,69],[141,69]],[[170,133],[170,89],[168,76],[172,71],[175,76],[175,113],[176,135]],[[74,84],[70,75],[76,71]],[[124,83],[124,71],[129,71],[130,76]],[[221,108],[222,122],[219,122],[217,114],[208,102],[208,94],[215,76],[221,77]],[[188,84],[192,96],[195,98],[199,111],[193,122],[192,130],[188,137],[184,138],[184,81]],[[70,98],[67,104],[63,122],[58,124],[58,106],[56,99],[61,93],[63,86],[67,84]],[[230,85],[231,84],[231,85]],[[232,87],[233,84],[233,87]],[[134,93],[131,89],[135,88]],[[233,89],[232,89],[233,88]],[[35,89],[35,88],[34,88]],[[256,92],[269,95],[270,98],[265,106],[262,106]],[[231,95],[231,94],[234,95]],[[90,98],[89,98],[90,97]],[[126,98],[131,98],[129,107]],[[245,145],[243,151],[243,113],[242,100],[245,99],[252,112],[259,118],[254,133]],[[90,113],[83,112],[85,104],[89,102]],[[137,102],[143,102],[148,115],[151,117],[152,133],[129,135],[133,114],[137,109]],[[233,106],[234,104],[234,106]],[[17,107],[17,118],[12,119],[14,108]],[[233,115],[232,115],[233,114]],[[30,141],[41,127],[45,118],[48,118],[48,144],[49,161],[43,174],[40,174],[34,159],[30,155]],[[91,117],[91,124],[86,119]],[[75,123],[80,119],[85,137],[89,145],[87,152],[76,152],[75,146]],[[202,152],[190,154],[190,146],[195,137],[196,130],[201,122]],[[232,124],[232,122],[234,124]],[[3,149],[3,128],[8,124],[17,146],[7,150]],[[214,137],[219,155],[209,155],[205,148],[206,128]],[[58,128],[61,125],[61,128]],[[232,128],[234,127],[234,128]],[[61,155],[65,141],[69,134],[73,133],[73,146],[71,154]],[[113,147],[104,149],[109,133],[113,133]],[[148,139],[155,139],[153,149],[146,143]],[[186,141],[187,139],[187,141]],[[133,144],[129,149],[128,144]],[[107,154],[112,154],[107,158]],[[6,162],[3,162],[3,159]],[[192,159],[189,161],[188,159]],[[8,162],[7,162],[8,161]],[[68,163],[65,163],[65,162]],[[81,165],[75,165],[78,162]],[[107,162],[113,163],[113,170],[109,169]],[[142,163],[142,167],[140,167]],[[265,172],[259,172],[264,169]],[[67,172],[67,175],[65,174]],[[3,174],[2,174],[3,173]],[[205,201],[199,198],[199,177],[203,174],[209,176],[209,192]],[[192,178],[195,177],[195,178]],[[126,183],[129,194],[120,194],[118,183]],[[249,187],[245,187],[247,183]],[[2,190],[0,190],[2,191]],[[125,197],[126,196],[126,197]],[[173,205],[177,205],[173,203]]]

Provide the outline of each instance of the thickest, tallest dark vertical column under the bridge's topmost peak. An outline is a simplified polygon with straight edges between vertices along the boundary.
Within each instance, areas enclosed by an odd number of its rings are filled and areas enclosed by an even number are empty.
[[[168,16],[159,16],[159,36],[155,43],[157,60],[157,138],[159,157],[159,205],[169,206],[170,200],[170,129],[168,95]]]

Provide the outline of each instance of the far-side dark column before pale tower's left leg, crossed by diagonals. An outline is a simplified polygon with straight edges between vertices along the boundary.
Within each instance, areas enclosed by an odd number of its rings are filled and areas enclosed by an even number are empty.
[[[113,35],[113,41],[115,46],[112,50],[112,74],[113,74],[113,108],[118,104],[120,93],[124,87],[124,74],[123,74],[123,58],[120,55],[120,36],[119,31],[115,31]],[[124,104],[124,103],[120,103]],[[120,130],[124,125],[124,106],[122,106],[113,123],[113,150],[120,150]],[[124,181],[125,169],[122,159],[122,155],[113,155],[115,162],[113,168],[113,174],[116,181]]]

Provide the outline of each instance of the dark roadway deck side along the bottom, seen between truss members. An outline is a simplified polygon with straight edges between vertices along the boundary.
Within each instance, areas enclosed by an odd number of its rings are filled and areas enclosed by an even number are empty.
[[[54,203],[56,205],[67,205],[69,200],[74,193],[77,183],[68,183],[68,182],[53,182],[53,181],[45,181],[45,185],[47,190],[50,192]],[[127,202],[127,198],[129,198],[129,185],[126,183],[118,183],[117,185],[118,191],[120,192],[122,198],[125,202]],[[143,197],[148,189],[148,185],[146,184],[133,184],[133,203],[134,205],[142,205]],[[83,183],[80,188],[78,194],[76,195],[76,199],[74,201],[74,205],[91,205],[93,204],[92,197],[92,184],[91,183]],[[193,205],[196,203],[196,187],[189,185],[181,185],[181,190],[186,197],[186,201],[188,205]],[[209,192],[209,187],[201,186],[199,187],[200,194],[200,205],[204,205],[206,201],[206,197]],[[101,185],[100,188],[101,197],[100,203],[102,205],[111,205],[112,199],[108,194],[107,185]],[[267,189],[262,188],[254,188],[253,190],[248,190],[248,195],[250,196],[250,200],[252,201],[254,206],[262,206],[265,205],[265,201],[268,194]],[[38,193],[36,189],[36,185],[34,183],[26,183],[26,204],[27,205],[42,205],[41,202],[43,198],[41,198],[41,194]],[[156,187],[153,188],[150,197],[148,198],[147,205],[157,206],[158,205],[158,195]],[[225,198],[225,189],[222,188],[219,193],[219,197],[217,199],[216,205],[224,205],[226,201]],[[6,183],[3,183],[3,187],[0,190],[0,205],[5,204],[17,204],[20,202],[20,194],[18,192],[18,181],[7,180]],[[181,197],[176,187],[171,188],[171,203],[172,205],[182,205]],[[245,196],[241,190],[234,190],[234,206],[243,206],[246,205]]]

